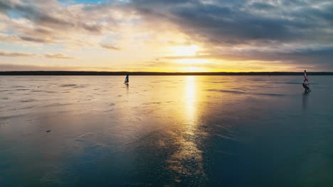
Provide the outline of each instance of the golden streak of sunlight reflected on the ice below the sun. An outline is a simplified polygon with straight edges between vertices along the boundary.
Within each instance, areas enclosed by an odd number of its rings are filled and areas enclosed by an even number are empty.
[[[197,183],[206,179],[203,171],[202,151],[198,148],[197,88],[196,77],[186,77],[184,89],[184,116],[179,128],[173,133],[178,149],[166,161],[176,172],[174,181],[181,182],[181,176],[198,176]],[[179,111],[181,112],[181,111]]]

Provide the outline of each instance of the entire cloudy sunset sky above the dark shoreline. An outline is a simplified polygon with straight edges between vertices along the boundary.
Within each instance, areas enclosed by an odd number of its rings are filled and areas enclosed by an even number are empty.
[[[333,1],[1,0],[0,71],[333,71]]]

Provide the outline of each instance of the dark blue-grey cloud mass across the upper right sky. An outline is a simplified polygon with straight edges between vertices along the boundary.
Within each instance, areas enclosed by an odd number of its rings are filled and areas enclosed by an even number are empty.
[[[137,1],[134,2],[137,3]],[[332,28],[332,25],[324,22],[333,20],[331,19],[333,11],[330,8],[326,8],[327,10],[317,8],[314,11],[311,6],[304,6],[302,1],[298,2],[301,7],[297,8],[302,11],[292,10],[292,8],[284,9],[286,8],[284,6],[263,2],[242,1],[243,4],[239,2],[231,4],[232,1],[226,4],[222,4],[221,1],[214,2],[214,4],[206,4],[201,1],[186,1],[184,5],[174,4],[167,9],[160,5],[153,7],[146,4],[142,6],[139,3],[136,5],[139,7],[137,10],[143,15],[169,18],[169,21],[176,23],[189,35],[200,36],[206,39],[206,42],[214,44],[222,42],[238,45],[252,40],[317,41],[318,38],[313,38],[314,33],[324,35],[323,37],[331,35],[325,29]],[[333,4],[327,1],[327,4],[329,3]],[[297,4],[297,1],[294,4]],[[258,13],[253,12],[253,8],[275,10]],[[321,19],[309,22],[304,20],[305,16],[316,16]]]

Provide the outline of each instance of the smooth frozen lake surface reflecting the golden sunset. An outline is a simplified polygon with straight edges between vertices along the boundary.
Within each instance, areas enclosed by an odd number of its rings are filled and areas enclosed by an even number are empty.
[[[0,78],[0,186],[333,186],[333,77]]]

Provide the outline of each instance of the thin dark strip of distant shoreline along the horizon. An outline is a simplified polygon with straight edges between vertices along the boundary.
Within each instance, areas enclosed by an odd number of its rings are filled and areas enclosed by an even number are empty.
[[[75,71],[13,71],[0,76],[116,76],[116,75],[303,75],[304,72],[75,72]],[[308,75],[333,75],[333,72],[307,72]]]

